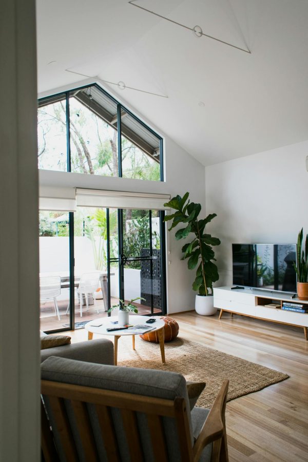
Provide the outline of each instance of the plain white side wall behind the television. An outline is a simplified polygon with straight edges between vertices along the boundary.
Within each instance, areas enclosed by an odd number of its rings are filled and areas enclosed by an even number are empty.
[[[232,284],[232,243],[296,243],[308,231],[308,141],[205,169],[208,230],[217,247],[220,280]]]

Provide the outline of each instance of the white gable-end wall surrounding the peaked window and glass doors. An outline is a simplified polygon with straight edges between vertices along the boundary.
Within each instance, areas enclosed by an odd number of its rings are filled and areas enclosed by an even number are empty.
[[[53,89],[44,94],[64,91],[69,88],[76,88],[80,85],[88,84],[89,81],[75,83],[70,87]],[[106,90],[112,94],[112,89],[106,87]],[[119,98],[116,97],[118,100]],[[132,111],[133,108],[121,101]],[[146,120],[138,111],[134,113],[140,117],[146,124],[156,130],[164,138],[164,158],[165,158],[165,181],[143,181],[131,180],[126,178],[99,177],[92,175],[81,175],[75,173],[40,171],[41,186],[57,187],[81,187],[93,189],[107,189],[133,192],[152,192],[160,194],[170,194],[171,197],[180,194],[181,196],[189,191],[190,199],[194,202],[200,202],[205,205],[205,188],[204,188],[204,166],[196,159],[192,158],[189,153],[184,151],[173,140],[164,133],[157,130],[150,121]],[[167,233],[167,306],[168,313],[177,313],[181,311],[193,310],[195,307],[195,292],[191,289],[191,284],[195,279],[195,273],[189,271],[186,262],[180,260],[181,248],[184,242],[177,242],[174,239],[175,232],[172,230],[170,236]],[[168,263],[169,260],[169,263]]]

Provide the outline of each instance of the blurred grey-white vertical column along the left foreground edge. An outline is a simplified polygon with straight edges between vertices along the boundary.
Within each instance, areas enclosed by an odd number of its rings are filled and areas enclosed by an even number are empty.
[[[0,460],[40,460],[35,1],[0,2]]]

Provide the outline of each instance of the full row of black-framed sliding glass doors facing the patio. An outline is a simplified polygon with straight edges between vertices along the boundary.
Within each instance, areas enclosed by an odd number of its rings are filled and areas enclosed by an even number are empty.
[[[41,329],[83,328],[108,316],[119,299],[138,298],[141,315],[165,314],[163,217],[157,210],[102,207],[42,212]]]

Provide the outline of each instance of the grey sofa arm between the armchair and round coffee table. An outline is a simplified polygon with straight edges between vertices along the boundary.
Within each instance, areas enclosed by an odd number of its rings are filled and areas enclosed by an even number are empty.
[[[113,343],[111,340],[100,338],[41,350],[41,362],[50,356],[113,365]]]

